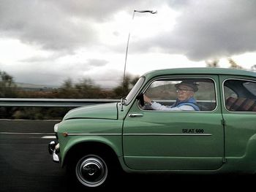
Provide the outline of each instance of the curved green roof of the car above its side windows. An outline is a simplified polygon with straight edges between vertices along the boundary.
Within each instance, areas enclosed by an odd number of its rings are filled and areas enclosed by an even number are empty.
[[[256,77],[255,72],[249,72],[241,69],[213,68],[213,67],[194,67],[194,68],[174,68],[174,69],[159,69],[143,74],[147,79],[159,75],[168,74],[232,74],[247,77]]]

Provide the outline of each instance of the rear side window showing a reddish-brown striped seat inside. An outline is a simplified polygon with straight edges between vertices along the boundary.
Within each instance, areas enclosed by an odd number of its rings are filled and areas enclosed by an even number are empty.
[[[256,112],[256,82],[226,80],[224,82],[225,107],[233,112]]]

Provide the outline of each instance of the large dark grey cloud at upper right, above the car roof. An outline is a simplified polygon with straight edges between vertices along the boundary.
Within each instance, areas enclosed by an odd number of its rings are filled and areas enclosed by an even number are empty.
[[[136,44],[139,50],[184,54],[194,61],[256,50],[256,1],[187,1],[173,31]]]

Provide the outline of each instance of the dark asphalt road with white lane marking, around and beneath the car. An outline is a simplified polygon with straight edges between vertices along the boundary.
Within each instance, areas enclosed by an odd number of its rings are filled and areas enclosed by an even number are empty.
[[[58,121],[0,120],[0,191],[78,191],[48,154]],[[248,175],[124,174],[112,191],[220,191],[255,188]],[[109,189],[108,189],[109,190]]]

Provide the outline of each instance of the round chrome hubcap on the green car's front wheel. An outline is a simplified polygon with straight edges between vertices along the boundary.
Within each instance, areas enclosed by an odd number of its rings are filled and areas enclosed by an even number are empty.
[[[86,155],[78,161],[75,169],[78,180],[88,187],[97,187],[105,182],[108,168],[105,161],[97,155]]]

